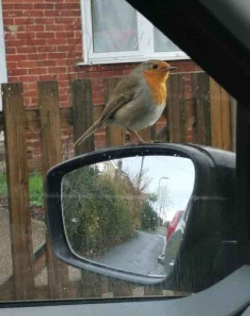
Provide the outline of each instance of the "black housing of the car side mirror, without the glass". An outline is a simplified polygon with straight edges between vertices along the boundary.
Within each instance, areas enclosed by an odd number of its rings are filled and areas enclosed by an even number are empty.
[[[146,276],[78,257],[69,246],[64,229],[61,205],[64,175],[93,163],[153,155],[186,157],[195,167],[193,194],[186,211],[186,229],[172,272],[166,277]],[[238,267],[235,190],[235,155],[209,147],[150,144],[80,155],[53,167],[46,175],[45,206],[52,249],[59,260],[79,269],[138,284],[163,283],[166,289],[197,292],[220,281]]]

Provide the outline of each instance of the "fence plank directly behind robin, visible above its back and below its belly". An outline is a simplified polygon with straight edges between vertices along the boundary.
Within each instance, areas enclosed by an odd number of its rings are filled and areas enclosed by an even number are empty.
[[[104,100],[108,102],[110,95],[114,91],[118,82],[122,77],[105,78],[104,79]],[[109,125],[106,127],[106,143],[107,147],[121,146],[126,143],[125,130],[116,125]]]

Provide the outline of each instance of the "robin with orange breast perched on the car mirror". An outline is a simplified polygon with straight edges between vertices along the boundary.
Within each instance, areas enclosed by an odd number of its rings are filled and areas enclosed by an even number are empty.
[[[137,66],[116,86],[101,117],[76,141],[82,143],[100,127],[122,126],[144,143],[137,131],[152,126],[160,118],[167,99],[166,81],[171,70],[165,61],[149,60]]]

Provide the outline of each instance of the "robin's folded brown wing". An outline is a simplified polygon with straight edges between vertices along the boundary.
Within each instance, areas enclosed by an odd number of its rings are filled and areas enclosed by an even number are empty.
[[[140,77],[134,74],[124,77],[111,94],[100,120],[109,119],[119,108],[133,100],[138,94],[140,81]]]

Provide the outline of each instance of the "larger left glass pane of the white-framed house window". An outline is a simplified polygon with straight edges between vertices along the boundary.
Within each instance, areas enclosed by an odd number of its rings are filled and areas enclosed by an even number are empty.
[[[138,50],[136,11],[125,1],[92,0],[94,53]]]

